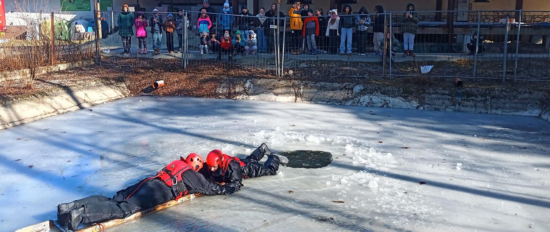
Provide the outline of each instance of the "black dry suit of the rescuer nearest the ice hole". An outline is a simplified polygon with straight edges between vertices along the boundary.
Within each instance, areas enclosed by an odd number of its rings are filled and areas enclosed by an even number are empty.
[[[243,186],[243,178],[255,178],[265,175],[277,175],[279,170],[279,157],[268,153],[267,161],[263,164],[259,163],[263,156],[266,155],[266,150],[263,147],[258,147],[250,156],[240,161],[231,161],[227,164],[227,169],[219,167],[215,172],[208,170],[208,165],[203,165],[200,173],[209,176],[211,180],[218,183],[226,183],[226,185],[237,187],[240,189]],[[244,165],[241,165],[241,162]],[[226,186],[224,185],[224,186]]]

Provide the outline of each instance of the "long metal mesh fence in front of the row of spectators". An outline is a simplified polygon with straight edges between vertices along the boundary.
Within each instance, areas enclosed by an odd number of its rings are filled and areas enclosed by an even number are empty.
[[[311,15],[284,16],[261,10],[265,16],[231,11],[100,12],[100,54],[182,59],[184,67],[220,65],[249,70],[251,75],[261,71],[290,78],[550,80],[548,12],[335,16],[312,9]],[[172,26],[173,32],[167,31]]]

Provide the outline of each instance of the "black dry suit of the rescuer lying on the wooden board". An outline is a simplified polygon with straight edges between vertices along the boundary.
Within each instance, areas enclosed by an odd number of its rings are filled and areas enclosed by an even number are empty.
[[[183,183],[182,183],[183,182]],[[208,181],[193,169],[182,173],[182,181],[177,184],[177,189],[185,194],[199,192],[204,195],[232,194],[238,189],[232,186],[222,186]],[[82,223],[101,223],[111,219],[125,218],[138,211],[174,200],[178,193],[173,187],[169,187],[161,179],[144,179],[139,183],[120,190],[112,198],[105,196],[90,196],[69,203],[70,209],[84,207]],[[67,217],[60,215],[58,218]],[[60,219],[60,222],[63,219]]]

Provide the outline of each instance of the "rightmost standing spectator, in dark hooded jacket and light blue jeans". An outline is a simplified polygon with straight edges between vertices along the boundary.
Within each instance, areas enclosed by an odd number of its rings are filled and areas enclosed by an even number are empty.
[[[415,6],[412,3],[407,4],[407,12],[401,15],[401,32],[403,32],[403,56],[414,57],[414,37],[418,31],[418,14],[415,12]]]

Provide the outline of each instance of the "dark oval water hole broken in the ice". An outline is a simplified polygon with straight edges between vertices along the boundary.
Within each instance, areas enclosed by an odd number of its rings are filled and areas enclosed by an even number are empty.
[[[322,168],[332,162],[332,154],[326,151],[285,151],[280,153],[289,160],[291,168]]]

